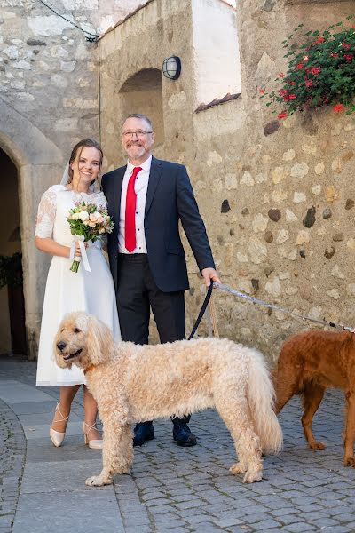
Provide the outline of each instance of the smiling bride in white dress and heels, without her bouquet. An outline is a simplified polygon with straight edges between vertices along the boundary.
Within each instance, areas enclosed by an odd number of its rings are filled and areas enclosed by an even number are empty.
[[[60,386],[59,402],[50,429],[54,446],[60,446],[64,440],[71,404],[83,385],[85,444],[90,448],[102,448],[102,438],[96,428],[98,408],[85,386],[83,370],[75,365],[70,370],[59,369],[52,355],[53,338],[64,314],[71,311],[95,314],[113,331],[116,340],[121,338],[114,282],[100,241],[85,243],[91,272],[82,263],[77,273],[70,270],[72,259],[69,256],[74,237],[67,216],[76,202],[96,203],[106,208],[106,197],[99,187],[102,159],[102,149],[95,140],[78,142],[61,184],[50,187],[38,207],[36,247],[51,254],[52,259],[45,287],[36,386]],[[77,242],[75,256],[81,256]]]

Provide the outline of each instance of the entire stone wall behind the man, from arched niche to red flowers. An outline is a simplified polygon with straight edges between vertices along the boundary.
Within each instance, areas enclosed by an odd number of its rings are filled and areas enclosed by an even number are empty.
[[[296,313],[350,325],[355,323],[354,120],[325,109],[272,123],[275,115],[257,89],[286,68],[281,42],[298,23],[304,31],[325,28],[352,8],[352,2],[239,2],[241,98],[200,113],[192,106],[198,58],[190,2],[156,0],[101,43],[102,138],[110,168],[124,160],[117,154],[119,87],[135,72],[159,68],[164,57],[177,54],[182,75],[176,82],[162,78],[164,142],[155,153],[186,164],[223,281]],[[144,49],[138,49],[138,36]],[[142,107],[132,105],[131,111],[145,112],[144,98],[138,103]],[[190,328],[204,290],[186,250]],[[259,346],[271,359],[284,338],[311,327],[226,294],[215,298],[220,333]]]

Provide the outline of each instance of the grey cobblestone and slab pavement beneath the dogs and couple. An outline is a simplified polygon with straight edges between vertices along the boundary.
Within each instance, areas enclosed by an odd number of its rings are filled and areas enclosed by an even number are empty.
[[[34,375],[34,363],[0,360],[0,397],[6,380],[33,387]],[[43,394],[34,387],[28,390]],[[156,439],[135,450],[130,475],[117,476],[114,489],[84,487],[85,477],[99,472],[100,457],[99,452],[83,447],[74,429],[62,448],[53,449],[46,435],[58,391],[52,387],[42,391],[51,408],[45,411],[48,415],[41,415],[43,426],[36,426],[38,420],[30,418],[34,415],[19,415],[28,452],[12,533],[51,531],[54,524],[59,533],[355,531],[355,470],[342,465],[343,394],[337,391],[327,393],[315,418],[314,432],[327,442],[324,451],[307,449],[299,400],[288,403],[280,415],[284,450],[279,457],[264,457],[262,482],[244,485],[228,472],[235,460],[233,443],[217,413],[208,410],[193,415],[190,426],[199,444],[190,449],[178,448],[172,441],[170,420],[154,423]],[[40,410],[42,403],[36,400],[33,410]],[[9,404],[15,411],[25,410],[21,402]],[[80,401],[74,411],[81,419]],[[6,428],[13,427],[7,444],[11,452],[0,457],[0,488],[4,490],[4,480],[10,480],[9,507],[7,500],[2,500],[0,516],[13,517],[17,498],[13,488],[20,477],[25,444],[12,410],[0,410],[0,420],[2,438]],[[26,426],[28,422],[35,425]],[[75,428],[76,422],[71,424]],[[31,448],[34,439],[28,430],[36,433],[41,427],[45,432],[38,435],[36,448]],[[14,457],[13,466],[9,457]],[[53,493],[60,495],[56,505],[51,503]],[[38,513],[44,521],[50,516],[51,526],[43,529]],[[89,515],[88,526],[83,517]],[[0,525],[0,533],[9,531],[9,521],[7,518],[4,527]]]

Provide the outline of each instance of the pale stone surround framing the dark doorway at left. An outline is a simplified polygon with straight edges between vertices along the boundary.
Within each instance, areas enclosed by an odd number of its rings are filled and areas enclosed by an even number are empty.
[[[42,131],[3,99],[0,99],[0,148],[18,172],[28,358],[36,359],[48,266],[48,259],[34,245],[36,210],[43,191],[63,169],[63,157]]]

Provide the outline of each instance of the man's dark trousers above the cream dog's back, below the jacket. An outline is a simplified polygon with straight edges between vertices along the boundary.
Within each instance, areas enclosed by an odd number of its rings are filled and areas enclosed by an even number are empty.
[[[148,344],[150,308],[161,342],[185,338],[184,291],[162,292],[146,254],[119,254],[117,309],[122,340]]]

